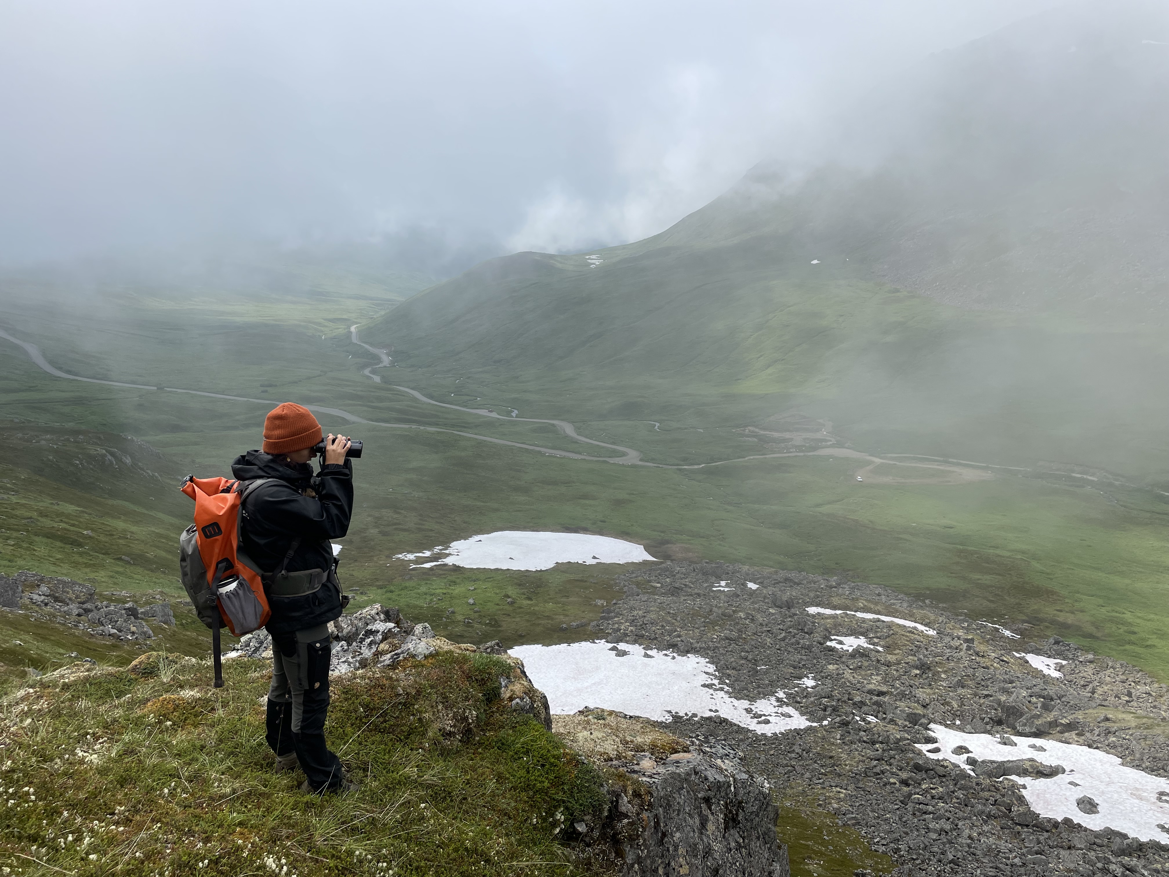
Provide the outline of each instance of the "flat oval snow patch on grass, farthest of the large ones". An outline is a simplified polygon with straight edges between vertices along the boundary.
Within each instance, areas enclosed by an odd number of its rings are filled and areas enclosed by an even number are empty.
[[[587,533],[541,533],[500,530],[472,536],[430,551],[395,554],[395,560],[417,560],[437,554],[447,557],[414,567],[452,564],[475,569],[551,569],[556,564],[639,564],[656,560],[645,548],[622,539]]]

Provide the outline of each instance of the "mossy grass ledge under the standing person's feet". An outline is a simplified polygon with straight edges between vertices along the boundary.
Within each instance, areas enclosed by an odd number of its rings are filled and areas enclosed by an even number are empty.
[[[359,792],[309,796],[264,744],[264,662],[77,664],[0,702],[0,865],[14,875],[574,875],[558,842],[596,772],[499,702],[506,662],[444,652],[334,682]]]

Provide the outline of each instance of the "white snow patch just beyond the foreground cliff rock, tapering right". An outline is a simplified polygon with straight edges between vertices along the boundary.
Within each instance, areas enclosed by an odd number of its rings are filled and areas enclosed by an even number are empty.
[[[721,716],[761,734],[812,724],[784,704],[782,691],[755,702],[732,697],[713,664],[698,655],[606,642],[517,645],[507,654],[524,662],[554,713],[600,706],[658,721]],[[713,688],[703,688],[711,683]]]

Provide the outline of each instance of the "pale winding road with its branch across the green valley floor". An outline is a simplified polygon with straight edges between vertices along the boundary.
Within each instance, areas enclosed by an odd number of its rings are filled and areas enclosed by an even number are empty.
[[[385,351],[379,351],[378,348],[372,347],[372,346],[369,346],[367,344],[364,344],[362,341],[358,340],[358,333],[357,333],[358,325],[359,324],[353,325],[353,326],[350,327],[350,333],[351,333],[351,337],[353,339],[353,343],[360,345],[361,347],[365,347],[365,348],[369,350],[373,353],[376,353],[379,357],[382,358],[383,361],[382,361],[381,366],[372,366],[373,368],[388,366],[390,357],[388,357],[385,353]],[[23,340],[21,340],[19,338],[15,338],[14,336],[5,332],[4,330],[0,330],[0,338],[5,338],[6,340],[12,341],[13,344],[18,345],[21,350],[23,350],[28,354],[29,359],[39,368],[41,368],[43,372],[53,375],[54,378],[63,378],[63,379],[68,379],[68,380],[78,380],[78,381],[84,381],[87,384],[103,384],[103,385],[112,386],[112,387],[126,387],[126,388],[130,388],[130,389],[153,389],[153,391],[162,391],[162,392],[168,392],[168,393],[189,393],[192,395],[208,396],[210,399],[226,399],[226,400],[234,401],[234,402],[250,402],[250,403],[255,403],[255,405],[278,405],[278,402],[276,400],[272,400],[272,399],[251,399],[249,396],[235,396],[235,395],[229,395],[229,394],[226,394],[226,393],[210,393],[210,392],[201,391],[201,389],[184,389],[184,388],[179,388],[179,387],[154,387],[154,386],[145,385],[145,384],[127,384],[127,382],[123,382],[123,381],[101,380],[98,378],[83,378],[81,375],[69,374],[67,372],[62,372],[61,370],[55,368],[54,366],[51,366],[48,362],[48,360],[44,359],[44,355],[41,353],[40,348],[35,344],[32,344],[29,341],[23,341]],[[366,374],[367,377],[372,378],[373,380],[378,381],[379,384],[381,382],[378,379],[378,375],[369,374],[369,370],[368,368],[364,370],[362,374]],[[461,429],[448,429],[445,427],[428,427],[428,426],[423,426],[423,424],[420,424],[420,423],[386,423],[386,422],[376,421],[376,420],[367,420],[367,419],[365,419],[365,417],[362,417],[360,415],[352,414],[352,413],[350,413],[347,410],[344,410],[343,408],[331,408],[331,407],[319,406],[319,405],[306,405],[305,407],[309,408],[309,410],[312,410],[312,412],[319,412],[320,414],[330,414],[330,415],[333,415],[333,416],[337,416],[337,417],[341,417],[343,420],[347,420],[351,423],[364,423],[364,424],[374,426],[374,427],[386,427],[388,429],[421,429],[421,430],[428,431],[428,433],[449,433],[451,435],[459,435],[459,436],[463,436],[465,438],[475,438],[475,440],[483,441],[483,442],[490,442],[492,444],[503,444],[503,446],[507,446],[507,447],[511,447],[511,448],[521,448],[524,450],[535,450],[535,451],[539,451],[539,453],[548,455],[548,456],[563,457],[563,458],[568,458],[568,460],[587,460],[587,461],[593,461],[593,462],[599,462],[599,463],[617,463],[617,464],[621,464],[621,465],[644,465],[644,467],[650,467],[650,468],[653,468],[653,469],[705,469],[706,467],[726,465],[728,463],[745,463],[745,462],[752,461],[752,460],[774,460],[776,457],[804,457],[804,456],[825,457],[826,456],[826,457],[849,457],[849,458],[856,458],[856,460],[866,460],[866,461],[869,461],[872,464],[872,465],[865,468],[865,472],[866,474],[869,471],[871,471],[871,469],[873,467],[876,467],[877,464],[880,464],[880,463],[885,463],[885,464],[888,464],[888,465],[912,467],[912,468],[918,468],[918,469],[921,469],[921,468],[927,468],[927,469],[946,469],[946,470],[950,470],[950,471],[955,471],[955,472],[960,472],[960,467],[961,465],[981,467],[988,474],[991,472],[992,470],[1004,470],[1004,471],[1007,471],[1009,474],[1018,474],[1018,472],[1022,472],[1022,471],[1033,471],[1032,469],[1026,469],[1026,468],[1023,468],[1023,467],[1002,467],[1002,465],[996,465],[994,463],[981,463],[981,462],[976,462],[976,461],[966,461],[966,460],[963,460],[963,461],[954,461],[954,460],[948,460],[948,458],[945,458],[945,457],[927,457],[927,456],[924,456],[924,455],[911,455],[911,454],[890,454],[890,455],[886,455],[885,457],[878,457],[878,456],[874,456],[872,454],[866,454],[864,451],[858,451],[858,450],[853,450],[851,448],[841,448],[841,447],[837,447],[837,448],[818,448],[818,449],[811,450],[811,451],[780,451],[780,453],[776,453],[776,454],[756,454],[756,455],[746,456],[746,457],[734,457],[734,458],[731,458],[731,460],[717,460],[717,461],[711,461],[711,462],[707,462],[707,463],[689,463],[689,464],[652,463],[650,461],[642,460],[642,451],[639,451],[639,450],[635,450],[632,448],[625,448],[625,447],[618,446],[618,444],[607,444],[607,443],[600,442],[600,441],[597,441],[595,438],[587,438],[587,437],[580,435],[576,431],[576,428],[572,423],[569,423],[568,421],[563,421],[563,420],[541,420],[541,419],[537,419],[537,417],[511,417],[511,416],[505,417],[502,414],[497,414],[496,412],[490,412],[490,410],[482,409],[482,408],[464,408],[462,406],[450,405],[448,402],[438,402],[438,401],[436,401],[434,399],[429,399],[428,396],[424,396],[422,393],[417,392],[416,389],[411,389],[409,387],[400,387],[400,386],[395,385],[394,389],[400,389],[403,393],[408,393],[409,395],[411,395],[413,398],[417,399],[421,402],[427,402],[429,405],[436,405],[436,406],[438,406],[441,408],[452,408],[455,410],[464,412],[464,413],[468,413],[468,414],[477,414],[479,416],[494,417],[497,420],[503,420],[503,421],[506,421],[506,422],[523,421],[523,422],[527,422],[527,423],[548,423],[548,424],[552,424],[552,426],[556,427],[556,429],[562,435],[566,435],[569,438],[573,438],[575,441],[588,443],[588,444],[596,444],[596,446],[600,446],[600,447],[603,447],[603,448],[613,448],[615,450],[622,450],[625,454],[622,457],[594,457],[594,456],[589,456],[587,454],[574,454],[573,451],[568,451],[568,450],[558,450],[555,448],[544,448],[544,447],[538,446],[538,444],[526,444],[524,442],[513,442],[513,441],[509,441],[506,438],[496,438],[493,436],[479,435],[478,433],[468,433],[468,431],[464,431],[464,430],[461,430]],[[940,461],[941,464],[939,465],[938,463],[929,464],[929,463],[920,463],[920,462],[901,462],[899,460],[891,460],[888,457],[909,457],[912,460],[934,460],[934,461]],[[966,471],[969,472],[970,470],[966,470]],[[1075,475],[1075,472],[1059,472],[1059,471],[1051,471],[1050,474],[1052,474],[1052,475]],[[1120,479],[1115,479],[1115,481],[1116,481],[1118,484],[1127,484],[1127,482],[1121,482]]]

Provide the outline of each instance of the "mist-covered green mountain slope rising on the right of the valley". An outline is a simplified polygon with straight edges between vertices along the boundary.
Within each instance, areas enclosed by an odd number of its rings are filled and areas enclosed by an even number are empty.
[[[1160,470],[1167,33],[1142,4],[1019,22],[874,95],[849,161],[484,262],[362,337],[596,419],[798,406],[870,449]]]

